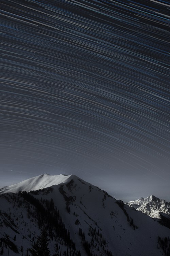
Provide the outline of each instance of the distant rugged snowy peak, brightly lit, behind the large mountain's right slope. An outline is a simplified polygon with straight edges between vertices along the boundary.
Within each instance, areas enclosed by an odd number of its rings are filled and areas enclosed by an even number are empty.
[[[147,198],[141,197],[138,200],[130,201],[126,204],[152,218],[159,218],[160,212],[170,215],[170,203],[153,195]]]

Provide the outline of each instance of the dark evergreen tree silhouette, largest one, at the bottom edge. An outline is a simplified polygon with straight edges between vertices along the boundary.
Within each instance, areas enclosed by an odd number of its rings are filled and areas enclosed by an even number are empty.
[[[31,256],[50,256],[48,241],[47,232],[43,230],[40,236],[38,236],[36,243],[29,249]]]

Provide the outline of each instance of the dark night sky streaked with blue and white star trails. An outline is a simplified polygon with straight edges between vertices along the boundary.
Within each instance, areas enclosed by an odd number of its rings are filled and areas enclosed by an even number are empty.
[[[63,173],[170,201],[169,1],[0,9],[0,187]]]

